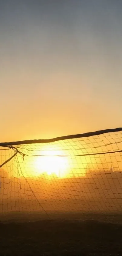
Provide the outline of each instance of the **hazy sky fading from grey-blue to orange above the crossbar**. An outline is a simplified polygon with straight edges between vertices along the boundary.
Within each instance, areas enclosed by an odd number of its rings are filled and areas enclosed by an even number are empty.
[[[0,0],[0,141],[122,126],[122,1]]]

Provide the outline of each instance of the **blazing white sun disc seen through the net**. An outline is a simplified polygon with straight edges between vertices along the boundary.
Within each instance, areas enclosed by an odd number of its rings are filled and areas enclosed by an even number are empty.
[[[59,150],[44,150],[35,160],[35,170],[38,175],[45,172],[50,176],[56,175],[62,178],[66,176],[68,169],[68,158]]]

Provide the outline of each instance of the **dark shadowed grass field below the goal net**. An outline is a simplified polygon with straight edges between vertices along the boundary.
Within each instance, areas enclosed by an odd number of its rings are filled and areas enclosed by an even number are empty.
[[[38,216],[0,223],[0,255],[122,255],[121,215]]]

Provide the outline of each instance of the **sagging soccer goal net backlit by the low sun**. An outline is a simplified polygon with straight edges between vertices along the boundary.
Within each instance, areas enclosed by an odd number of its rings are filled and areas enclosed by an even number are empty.
[[[121,212],[122,128],[0,143],[0,213]]]

